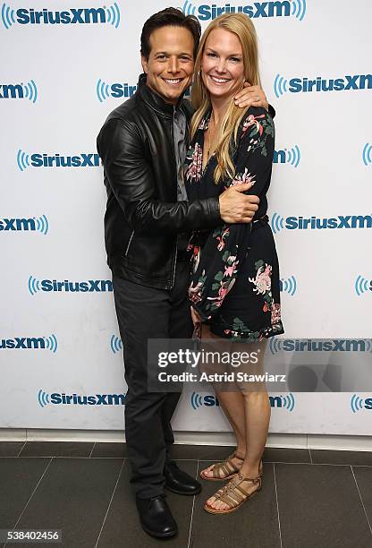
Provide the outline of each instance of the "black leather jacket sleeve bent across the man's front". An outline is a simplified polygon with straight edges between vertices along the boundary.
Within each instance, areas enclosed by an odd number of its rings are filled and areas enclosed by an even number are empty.
[[[107,121],[97,137],[97,150],[114,196],[134,230],[185,232],[222,224],[217,198],[154,199],[154,175],[135,124],[117,118]]]

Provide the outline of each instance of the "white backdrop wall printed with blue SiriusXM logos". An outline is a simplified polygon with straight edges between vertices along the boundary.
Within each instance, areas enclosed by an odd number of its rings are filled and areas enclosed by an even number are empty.
[[[143,22],[169,4],[178,3],[0,5],[0,427],[123,429],[123,345],[93,155],[106,115],[137,82]],[[180,7],[205,28],[224,5]],[[254,17],[276,109],[269,214],[283,338],[370,338],[372,4],[228,5]],[[297,227],[311,217],[328,227]],[[372,394],[272,394],[271,403],[270,432],[371,433]],[[216,399],[197,388],[183,394],[173,424],[229,429]]]

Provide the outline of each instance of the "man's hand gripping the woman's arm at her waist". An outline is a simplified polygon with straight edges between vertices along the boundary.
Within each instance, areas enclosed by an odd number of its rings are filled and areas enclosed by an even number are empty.
[[[220,215],[225,223],[250,223],[258,210],[258,196],[243,194],[251,183],[234,184],[220,194]]]

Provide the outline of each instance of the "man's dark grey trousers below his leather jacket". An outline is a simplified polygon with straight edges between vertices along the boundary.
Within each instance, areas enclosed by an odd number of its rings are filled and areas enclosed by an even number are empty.
[[[124,348],[125,435],[131,484],[140,498],[163,492],[173,444],[171,418],[179,392],[148,392],[148,338],[190,338],[190,261],[178,261],[171,291],[114,276],[114,300]]]

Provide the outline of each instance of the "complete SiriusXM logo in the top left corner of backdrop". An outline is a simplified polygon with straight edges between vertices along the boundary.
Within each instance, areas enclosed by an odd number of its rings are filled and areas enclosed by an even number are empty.
[[[76,24],[110,24],[115,29],[120,24],[120,9],[118,4],[99,8],[70,8],[57,11],[35,10],[33,8],[19,8],[13,10],[3,3],[1,8],[1,21],[5,29],[10,29],[15,24],[20,25],[76,25]]]

